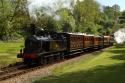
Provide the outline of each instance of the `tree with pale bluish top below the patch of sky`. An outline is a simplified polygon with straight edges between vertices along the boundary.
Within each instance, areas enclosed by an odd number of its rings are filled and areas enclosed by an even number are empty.
[[[104,34],[112,34],[115,32],[118,28],[120,28],[118,23],[118,18],[121,15],[120,7],[118,5],[113,5],[112,7],[106,6],[103,8],[102,13],[102,19],[103,23],[102,26],[104,26]]]

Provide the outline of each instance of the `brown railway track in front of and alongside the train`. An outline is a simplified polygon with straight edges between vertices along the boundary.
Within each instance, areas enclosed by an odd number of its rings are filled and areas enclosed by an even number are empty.
[[[95,52],[95,51],[92,51],[92,52]],[[85,52],[82,54],[85,55],[85,54],[89,54],[92,52],[87,52],[87,53]],[[45,64],[45,65],[41,65],[41,66],[36,66],[36,67],[27,67],[26,65],[21,64],[21,63],[18,65],[4,67],[4,68],[1,68],[1,70],[0,70],[0,81],[6,80],[6,79],[9,79],[12,77],[16,77],[16,76],[40,69],[40,68],[44,68],[44,67],[50,66],[50,65],[55,64],[55,63],[63,62],[65,60],[71,59],[71,58],[74,58],[74,57],[66,58],[63,60],[59,60],[59,61],[56,61],[53,63],[49,63],[49,64]]]

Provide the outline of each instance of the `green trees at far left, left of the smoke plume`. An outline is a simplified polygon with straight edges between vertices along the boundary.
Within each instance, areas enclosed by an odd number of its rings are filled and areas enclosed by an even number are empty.
[[[27,24],[27,0],[0,1],[0,39],[8,38]]]

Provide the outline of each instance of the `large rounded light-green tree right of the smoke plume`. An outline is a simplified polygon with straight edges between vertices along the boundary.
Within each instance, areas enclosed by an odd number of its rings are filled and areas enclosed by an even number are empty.
[[[100,19],[100,5],[94,0],[77,1],[73,14],[80,32],[94,33]]]

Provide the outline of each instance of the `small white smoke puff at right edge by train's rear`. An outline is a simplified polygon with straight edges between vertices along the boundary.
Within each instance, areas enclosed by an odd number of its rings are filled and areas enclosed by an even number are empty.
[[[119,29],[114,33],[115,40],[118,44],[122,44],[125,42],[125,29]]]

